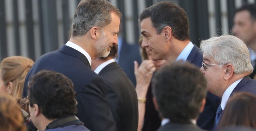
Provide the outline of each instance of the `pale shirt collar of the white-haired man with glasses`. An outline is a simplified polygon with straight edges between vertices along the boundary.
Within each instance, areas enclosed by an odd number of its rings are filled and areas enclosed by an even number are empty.
[[[222,98],[221,98],[221,109],[224,110],[226,104],[227,104],[227,101],[228,101],[228,98],[230,96],[230,94],[232,93],[232,91],[235,89],[235,87],[237,86],[237,84],[242,80],[243,78],[235,81],[234,83],[232,83],[227,89],[226,91],[224,92]]]

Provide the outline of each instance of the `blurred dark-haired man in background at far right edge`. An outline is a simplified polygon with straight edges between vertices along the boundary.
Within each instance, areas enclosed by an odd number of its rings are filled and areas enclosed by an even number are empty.
[[[235,12],[233,34],[243,40],[249,49],[254,70],[251,79],[256,78],[256,4],[245,4]]]

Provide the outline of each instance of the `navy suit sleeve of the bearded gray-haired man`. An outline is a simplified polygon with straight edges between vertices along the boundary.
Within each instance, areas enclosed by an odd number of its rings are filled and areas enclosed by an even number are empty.
[[[116,131],[107,102],[106,85],[100,76],[92,77],[77,91],[77,116],[92,131]]]

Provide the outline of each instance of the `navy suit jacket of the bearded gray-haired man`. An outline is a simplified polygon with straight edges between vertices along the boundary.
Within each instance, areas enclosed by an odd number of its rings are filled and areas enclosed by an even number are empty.
[[[102,77],[91,70],[88,59],[78,50],[63,45],[42,55],[28,72],[23,96],[27,96],[31,77],[41,70],[64,74],[74,84],[78,112],[76,116],[92,131],[114,131],[116,125],[107,102],[107,88]]]

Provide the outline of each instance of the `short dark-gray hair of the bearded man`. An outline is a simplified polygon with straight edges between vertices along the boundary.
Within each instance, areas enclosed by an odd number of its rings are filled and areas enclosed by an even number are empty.
[[[121,19],[121,12],[107,0],[81,0],[72,23],[72,36],[83,36],[96,26],[102,29],[111,22],[111,13]]]

